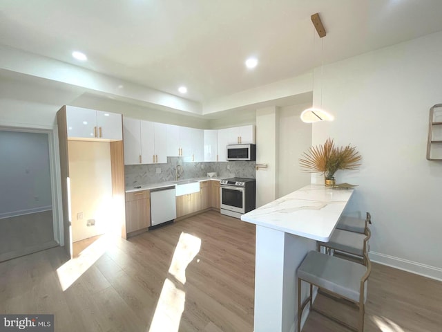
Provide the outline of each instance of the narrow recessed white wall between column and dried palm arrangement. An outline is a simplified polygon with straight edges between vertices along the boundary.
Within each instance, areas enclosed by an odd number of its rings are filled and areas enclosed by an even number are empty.
[[[301,172],[299,158],[311,146],[311,124],[300,120],[300,113],[311,107],[300,104],[280,107],[279,113],[279,162],[277,198],[294,192],[310,183],[310,174]]]

